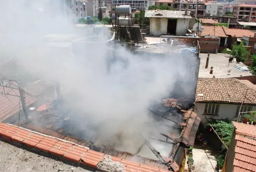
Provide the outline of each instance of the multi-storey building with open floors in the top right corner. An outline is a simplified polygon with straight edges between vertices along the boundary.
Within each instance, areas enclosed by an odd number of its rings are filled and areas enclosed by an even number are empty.
[[[256,2],[234,5],[232,15],[237,17],[238,22],[256,22]]]

